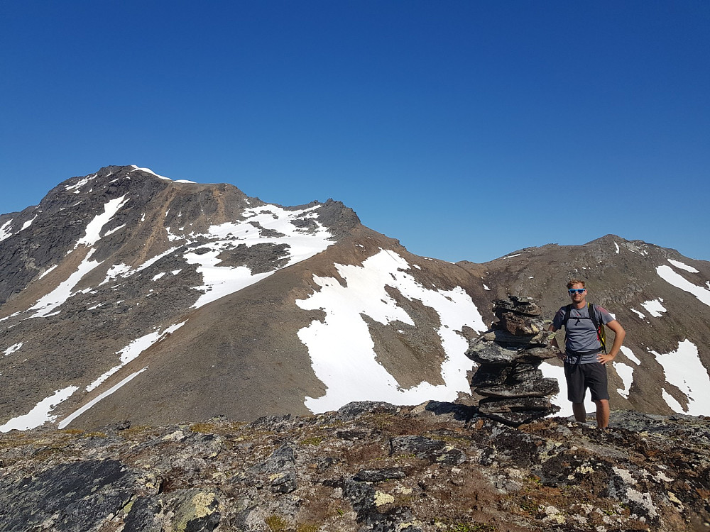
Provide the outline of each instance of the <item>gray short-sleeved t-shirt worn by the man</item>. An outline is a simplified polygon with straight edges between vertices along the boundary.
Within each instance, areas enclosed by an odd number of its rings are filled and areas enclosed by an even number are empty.
[[[559,309],[552,320],[552,326],[555,329],[562,328],[565,308],[563,306]],[[593,308],[596,309],[596,319],[599,323],[606,325],[606,323],[613,321],[614,317],[603,307],[595,305]],[[591,311],[591,309],[589,310]],[[576,363],[578,356],[574,353],[584,353],[585,351],[593,351],[593,353],[581,355],[579,363],[590,364],[591,362],[596,362],[596,353],[599,353],[600,350],[601,342],[594,329],[594,321],[589,318],[587,307],[583,306],[581,309],[575,309],[573,306],[569,312],[569,321],[567,321],[564,331],[564,352],[567,353],[567,362]]]

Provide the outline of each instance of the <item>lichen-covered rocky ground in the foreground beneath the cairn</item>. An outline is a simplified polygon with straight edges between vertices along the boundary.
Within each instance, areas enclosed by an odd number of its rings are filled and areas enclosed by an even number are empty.
[[[707,418],[511,428],[475,409],[0,435],[1,531],[704,531]]]

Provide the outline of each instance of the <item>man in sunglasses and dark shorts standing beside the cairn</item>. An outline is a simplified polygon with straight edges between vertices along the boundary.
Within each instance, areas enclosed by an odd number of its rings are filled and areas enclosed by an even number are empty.
[[[572,401],[574,419],[586,423],[584,394],[589,388],[591,400],[596,404],[596,425],[599,428],[606,428],[609,424],[606,362],[616,358],[626,336],[626,331],[606,309],[598,305],[589,306],[587,304],[584,281],[571,279],[567,283],[567,292],[572,298],[569,319],[567,323],[564,323],[567,307],[563,306],[555,314],[549,328],[550,331],[555,332],[564,326],[564,353],[560,352],[558,357],[564,360],[567,399]],[[589,312],[596,313],[596,321],[601,327],[606,325],[614,331],[614,343],[608,353],[604,353],[599,334]],[[556,338],[552,340],[552,345],[559,348]]]

